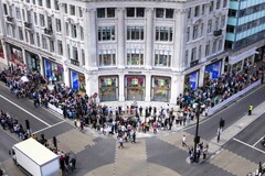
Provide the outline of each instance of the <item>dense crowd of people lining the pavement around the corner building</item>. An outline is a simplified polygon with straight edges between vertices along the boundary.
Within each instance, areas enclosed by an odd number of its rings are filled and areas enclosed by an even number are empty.
[[[209,108],[256,81],[262,69],[257,69],[254,75],[248,74],[246,68],[243,74],[226,73],[218,79],[205,78],[204,85],[195,89],[192,85],[186,84],[184,92],[177,99],[178,112],[167,103],[159,108],[151,106],[144,108],[137,105],[118,107],[96,105],[93,97],[81,96],[77,90],[62,82],[49,80],[38,72],[29,72],[21,67],[2,70],[0,78],[17,98],[33,99],[36,108],[39,106],[47,108],[49,103],[53,105],[63,111],[64,118],[80,120],[82,130],[85,125],[89,125],[104,134],[118,135],[121,132],[130,135],[131,131],[147,132],[152,129],[152,132],[157,133],[159,130],[171,130],[174,123],[187,125],[195,117],[197,110],[193,105],[198,102],[201,105],[200,113],[206,116]]]

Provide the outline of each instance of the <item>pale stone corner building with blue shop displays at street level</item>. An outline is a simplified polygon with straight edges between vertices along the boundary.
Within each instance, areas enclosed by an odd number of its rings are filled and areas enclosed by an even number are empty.
[[[224,69],[229,0],[0,0],[9,65],[98,95],[176,103]]]

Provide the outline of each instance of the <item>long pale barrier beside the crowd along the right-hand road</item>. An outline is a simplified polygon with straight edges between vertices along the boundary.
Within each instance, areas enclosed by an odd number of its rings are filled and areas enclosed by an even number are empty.
[[[213,114],[214,112],[216,112],[218,110],[220,110],[221,108],[223,108],[224,106],[230,103],[231,101],[235,100],[236,98],[239,98],[242,95],[245,95],[247,91],[250,91],[251,89],[257,87],[258,85],[261,85],[261,79],[258,79],[254,84],[250,85],[248,87],[244,88],[243,90],[239,91],[237,94],[231,96],[226,100],[224,100],[224,101],[218,103],[216,106],[212,107],[211,109],[209,109],[209,113],[208,114],[209,116]]]

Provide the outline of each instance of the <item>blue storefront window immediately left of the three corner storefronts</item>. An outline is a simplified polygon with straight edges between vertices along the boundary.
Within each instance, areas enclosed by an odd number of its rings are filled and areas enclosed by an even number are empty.
[[[85,92],[85,75],[71,70],[71,86],[75,90],[81,90]]]

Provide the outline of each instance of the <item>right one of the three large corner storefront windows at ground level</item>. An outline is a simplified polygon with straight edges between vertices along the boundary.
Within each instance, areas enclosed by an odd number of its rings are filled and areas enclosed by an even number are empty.
[[[171,78],[153,76],[151,78],[151,100],[169,101]]]

